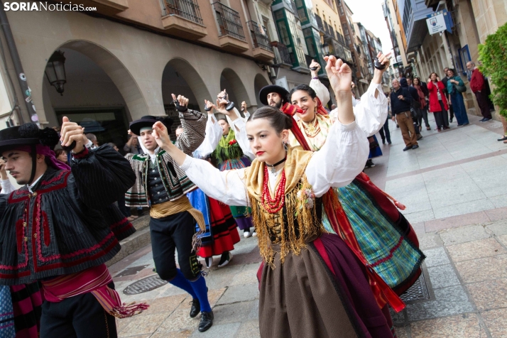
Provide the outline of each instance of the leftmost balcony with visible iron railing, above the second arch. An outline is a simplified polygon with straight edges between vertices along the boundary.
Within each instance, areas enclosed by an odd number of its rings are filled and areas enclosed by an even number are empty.
[[[164,0],[162,25],[170,34],[197,40],[207,36],[196,0]]]

